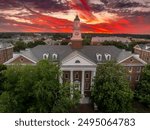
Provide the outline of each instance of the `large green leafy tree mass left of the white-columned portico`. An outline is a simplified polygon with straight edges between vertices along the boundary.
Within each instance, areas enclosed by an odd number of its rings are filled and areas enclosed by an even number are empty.
[[[59,67],[47,60],[36,66],[10,66],[5,71],[0,112],[69,112],[79,102],[70,85],[59,83]]]

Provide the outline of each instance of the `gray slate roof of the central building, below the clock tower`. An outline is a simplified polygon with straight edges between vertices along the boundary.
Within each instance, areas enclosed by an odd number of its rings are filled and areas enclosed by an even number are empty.
[[[65,45],[39,45],[22,54],[29,57],[34,61],[39,61],[43,58],[44,53],[48,53],[50,58],[52,54],[58,55],[58,61],[61,62],[66,56],[74,51],[78,51],[81,55],[89,60],[97,63],[96,53],[102,55],[102,61],[105,62],[105,54],[110,54],[112,60],[121,61],[131,55],[130,52],[118,49],[115,46],[83,46],[82,49],[72,49],[70,46]]]

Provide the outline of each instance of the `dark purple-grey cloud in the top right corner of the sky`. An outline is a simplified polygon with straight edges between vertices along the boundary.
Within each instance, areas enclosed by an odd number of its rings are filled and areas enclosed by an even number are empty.
[[[134,17],[150,13],[150,5],[139,0],[100,0],[104,4],[104,10],[116,13],[119,16]],[[97,8],[98,9],[98,8]],[[101,8],[99,8],[101,10]],[[147,10],[149,9],[149,10]]]

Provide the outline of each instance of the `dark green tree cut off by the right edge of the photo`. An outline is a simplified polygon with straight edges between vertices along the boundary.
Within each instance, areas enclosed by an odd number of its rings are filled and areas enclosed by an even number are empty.
[[[135,95],[141,103],[150,107],[150,65],[143,69]]]

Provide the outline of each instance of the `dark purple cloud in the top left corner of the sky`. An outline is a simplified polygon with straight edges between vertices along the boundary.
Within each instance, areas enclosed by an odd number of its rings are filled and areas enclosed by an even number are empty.
[[[62,0],[0,0],[0,9],[28,6],[44,12],[57,12],[69,9],[68,2]]]

